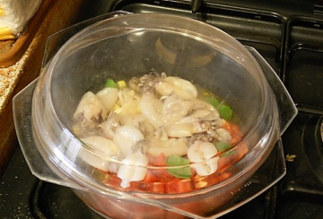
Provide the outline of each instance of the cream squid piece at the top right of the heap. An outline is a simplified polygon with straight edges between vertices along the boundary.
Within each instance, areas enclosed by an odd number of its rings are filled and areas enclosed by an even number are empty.
[[[166,77],[154,86],[157,93],[161,96],[170,96],[176,94],[183,99],[191,99],[197,97],[196,87],[188,80],[179,77]]]

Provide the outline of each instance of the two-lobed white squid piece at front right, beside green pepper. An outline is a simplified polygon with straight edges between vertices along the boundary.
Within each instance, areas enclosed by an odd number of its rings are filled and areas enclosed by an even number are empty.
[[[188,147],[188,159],[191,163],[194,163],[191,166],[200,176],[215,173],[220,158],[215,156],[216,154],[217,149],[214,144],[207,141],[196,140]]]

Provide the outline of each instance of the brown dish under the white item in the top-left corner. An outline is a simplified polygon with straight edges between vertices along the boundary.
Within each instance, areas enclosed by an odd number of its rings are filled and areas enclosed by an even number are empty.
[[[0,67],[6,68],[16,63],[24,54],[34,38],[40,23],[48,13],[48,8],[53,0],[43,0],[38,11],[27,23],[26,30],[19,38],[0,40]]]

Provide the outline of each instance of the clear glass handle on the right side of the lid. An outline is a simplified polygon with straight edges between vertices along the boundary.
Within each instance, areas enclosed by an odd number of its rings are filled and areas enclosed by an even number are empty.
[[[255,57],[260,68],[266,76],[270,87],[272,88],[277,105],[279,107],[279,125],[280,125],[280,135],[283,135],[287,127],[292,122],[293,118],[297,114],[297,108],[292,101],[292,97],[288,93],[287,89],[284,87],[282,80],[279,79],[278,75],[275,73],[273,68],[266,62],[266,60],[258,53],[258,51],[253,48],[246,46],[249,52]]]

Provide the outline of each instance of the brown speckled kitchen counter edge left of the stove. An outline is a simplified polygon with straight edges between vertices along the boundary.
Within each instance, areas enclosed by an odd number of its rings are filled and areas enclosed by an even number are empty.
[[[0,68],[0,177],[4,173],[16,144],[13,124],[13,97],[39,76],[47,38],[61,29],[87,19],[87,14],[100,12],[99,2],[87,0],[50,0],[43,21],[31,43],[17,63]],[[101,9],[104,10],[104,9]],[[93,15],[91,15],[93,16]]]

